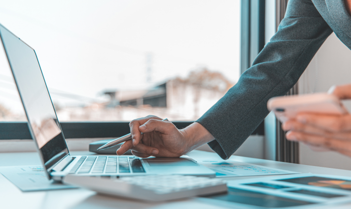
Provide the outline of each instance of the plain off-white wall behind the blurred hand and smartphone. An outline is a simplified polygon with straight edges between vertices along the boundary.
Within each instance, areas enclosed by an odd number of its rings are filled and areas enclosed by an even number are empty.
[[[325,92],[332,85],[351,83],[351,51],[333,33],[324,42],[299,80],[299,93]],[[351,103],[344,103],[351,110]],[[351,169],[351,158],[336,152],[315,152],[300,144],[300,163]]]

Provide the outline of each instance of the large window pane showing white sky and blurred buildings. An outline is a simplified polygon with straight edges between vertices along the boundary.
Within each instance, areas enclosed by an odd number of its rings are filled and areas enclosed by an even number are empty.
[[[239,78],[240,1],[6,1],[60,121],[196,120]],[[0,120],[26,120],[4,50]]]

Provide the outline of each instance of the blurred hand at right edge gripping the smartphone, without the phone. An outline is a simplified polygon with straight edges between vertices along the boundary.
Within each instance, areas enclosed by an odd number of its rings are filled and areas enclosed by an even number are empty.
[[[328,91],[339,99],[351,98],[351,85]],[[286,138],[307,144],[316,151],[334,150],[351,157],[351,115],[301,113],[282,124]]]

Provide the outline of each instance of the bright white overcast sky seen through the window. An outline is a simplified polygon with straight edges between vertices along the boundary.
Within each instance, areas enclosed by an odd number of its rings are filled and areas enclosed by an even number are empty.
[[[0,5],[0,23],[35,49],[52,98],[63,106],[106,99],[104,90],[148,88],[202,67],[233,83],[239,78],[240,1],[8,0]],[[9,72],[1,68],[0,81]],[[7,95],[16,89],[4,85],[0,103],[16,109]]]

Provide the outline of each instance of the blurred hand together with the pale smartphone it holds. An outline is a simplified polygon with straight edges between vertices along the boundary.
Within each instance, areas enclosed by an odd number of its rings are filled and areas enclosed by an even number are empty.
[[[276,97],[267,107],[283,122],[288,140],[351,157],[351,115],[339,101],[351,99],[351,84],[332,87],[329,93]]]

